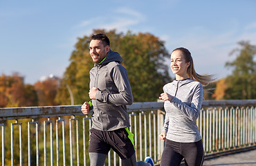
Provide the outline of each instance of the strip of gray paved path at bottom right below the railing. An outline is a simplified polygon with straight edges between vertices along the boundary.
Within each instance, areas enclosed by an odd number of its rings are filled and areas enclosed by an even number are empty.
[[[205,160],[203,166],[256,166],[256,149]]]

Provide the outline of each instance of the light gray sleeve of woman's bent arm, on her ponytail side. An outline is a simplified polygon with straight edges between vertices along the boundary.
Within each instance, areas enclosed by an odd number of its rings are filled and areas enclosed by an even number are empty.
[[[195,121],[197,118],[199,118],[199,113],[201,110],[201,105],[203,103],[203,86],[201,83],[197,84],[194,90],[194,93],[192,95],[192,102],[190,106],[188,104],[185,104],[181,102],[176,97],[172,97],[171,102],[174,104],[175,107],[183,111],[185,116],[190,118],[190,120]]]

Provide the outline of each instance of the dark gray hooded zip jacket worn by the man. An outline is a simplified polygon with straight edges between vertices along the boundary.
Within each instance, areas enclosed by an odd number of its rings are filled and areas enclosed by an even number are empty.
[[[106,59],[91,68],[90,89],[99,89],[92,100],[94,129],[113,131],[129,127],[126,105],[132,104],[133,96],[127,71],[121,62],[119,53],[109,50]]]

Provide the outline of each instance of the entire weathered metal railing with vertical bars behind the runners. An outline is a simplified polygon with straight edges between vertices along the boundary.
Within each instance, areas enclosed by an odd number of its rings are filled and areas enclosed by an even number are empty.
[[[203,101],[197,124],[205,155],[256,145],[256,100]],[[127,107],[137,160],[161,160],[163,102]],[[0,109],[0,165],[89,165],[91,116],[80,105]],[[24,127],[25,126],[25,127]],[[54,127],[55,126],[55,127]],[[105,165],[121,165],[110,151]]]

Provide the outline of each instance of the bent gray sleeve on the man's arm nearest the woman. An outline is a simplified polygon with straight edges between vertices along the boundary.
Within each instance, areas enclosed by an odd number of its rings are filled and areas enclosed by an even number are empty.
[[[96,93],[96,99],[113,105],[130,105],[134,102],[126,69],[117,65],[113,68],[112,77],[118,93],[109,94],[103,91]]]

